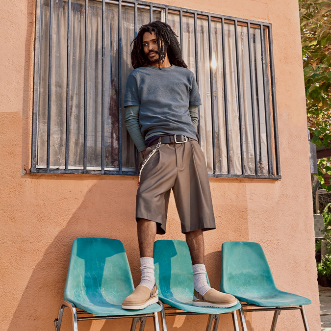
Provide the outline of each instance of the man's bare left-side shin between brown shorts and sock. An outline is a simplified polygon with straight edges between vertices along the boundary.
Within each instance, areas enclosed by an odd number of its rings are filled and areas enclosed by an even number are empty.
[[[140,257],[153,257],[156,223],[140,218],[137,223]]]

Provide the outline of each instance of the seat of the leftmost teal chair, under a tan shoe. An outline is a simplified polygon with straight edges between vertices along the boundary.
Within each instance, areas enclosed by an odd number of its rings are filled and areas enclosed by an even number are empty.
[[[122,309],[122,305],[113,305],[110,303],[105,304],[104,302],[102,302],[102,304],[100,305],[98,305],[97,302],[95,304],[86,303],[86,302],[84,302],[84,304],[78,302],[72,302],[72,303],[76,306],[76,308],[83,309],[86,312],[94,315],[110,315],[110,316],[139,315],[139,314],[148,314],[148,313],[161,311],[161,307],[158,304],[153,304],[140,310],[128,310],[128,309]]]

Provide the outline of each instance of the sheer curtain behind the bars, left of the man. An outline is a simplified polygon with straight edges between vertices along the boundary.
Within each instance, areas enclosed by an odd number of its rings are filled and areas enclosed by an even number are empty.
[[[41,33],[40,93],[37,131],[37,166],[46,167],[48,118],[50,1],[43,0]],[[69,118],[66,125],[68,2],[54,1],[51,44],[51,168],[65,167],[66,129],[69,130],[69,168],[83,168],[84,149],[84,62],[85,1],[72,1],[71,50],[69,56]],[[118,169],[118,6],[105,7],[104,132],[105,168]],[[102,4],[89,1],[86,61],[86,145],[87,169],[101,169],[102,134]]]

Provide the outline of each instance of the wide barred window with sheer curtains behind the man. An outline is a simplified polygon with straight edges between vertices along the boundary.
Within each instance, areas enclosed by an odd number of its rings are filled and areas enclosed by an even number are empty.
[[[37,0],[31,172],[138,173],[123,96],[150,20],[172,26],[196,75],[209,176],[280,178],[271,25],[109,0]]]

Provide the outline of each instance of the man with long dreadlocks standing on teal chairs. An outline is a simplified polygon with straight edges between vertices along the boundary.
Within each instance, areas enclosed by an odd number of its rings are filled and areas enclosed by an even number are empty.
[[[232,295],[210,288],[206,280],[203,231],[215,229],[215,219],[198,144],[201,100],[194,74],[181,58],[175,32],[160,21],[140,28],[131,62],[124,106],[127,130],[144,156],[136,198],[142,275],[122,307],[142,309],[158,301],[153,243],[156,233],[165,233],[171,189],[192,258],[193,305],[234,306]]]

